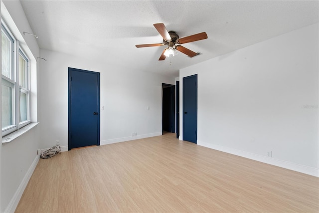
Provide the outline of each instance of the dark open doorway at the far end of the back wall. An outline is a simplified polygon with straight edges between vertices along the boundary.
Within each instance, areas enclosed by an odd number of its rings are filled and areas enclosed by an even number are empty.
[[[175,132],[174,85],[162,83],[162,131]]]

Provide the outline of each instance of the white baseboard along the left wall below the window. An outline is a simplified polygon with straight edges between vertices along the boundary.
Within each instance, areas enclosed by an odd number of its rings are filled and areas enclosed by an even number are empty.
[[[20,185],[18,186],[17,190],[15,191],[11,201],[9,202],[9,205],[4,210],[4,213],[13,213],[16,209],[16,207],[19,204],[19,201],[21,199],[21,196],[35,170],[36,165],[38,164],[40,159],[40,154],[38,154],[35,159],[33,160],[31,166],[29,167],[28,171],[26,172],[24,178],[22,179]]]

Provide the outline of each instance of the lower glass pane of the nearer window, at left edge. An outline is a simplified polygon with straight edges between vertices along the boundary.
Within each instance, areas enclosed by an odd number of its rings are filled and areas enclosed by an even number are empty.
[[[7,86],[7,81],[1,82],[1,120],[2,129],[13,124],[12,122],[12,88]]]

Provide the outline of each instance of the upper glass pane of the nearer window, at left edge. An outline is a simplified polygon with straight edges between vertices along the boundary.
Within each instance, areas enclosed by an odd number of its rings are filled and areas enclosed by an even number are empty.
[[[5,77],[12,79],[11,73],[11,43],[12,41],[6,36],[5,32],[1,30],[1,73]]]

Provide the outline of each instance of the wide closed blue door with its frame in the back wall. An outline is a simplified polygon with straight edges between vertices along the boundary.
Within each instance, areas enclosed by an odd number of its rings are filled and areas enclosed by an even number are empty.
[[[69,68],[69,150],[100,145],[100,73]]]

